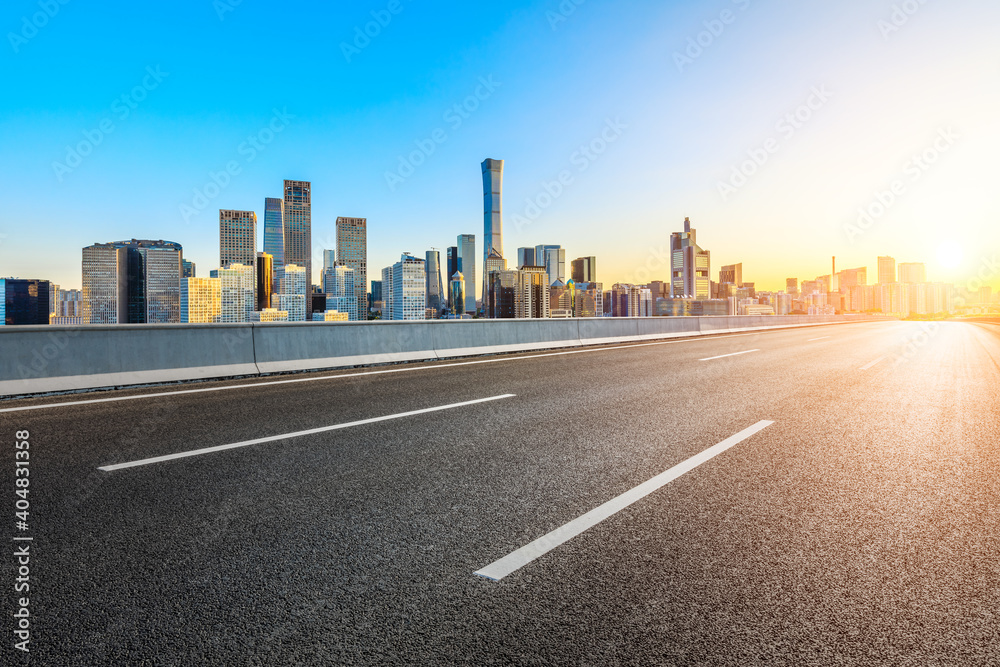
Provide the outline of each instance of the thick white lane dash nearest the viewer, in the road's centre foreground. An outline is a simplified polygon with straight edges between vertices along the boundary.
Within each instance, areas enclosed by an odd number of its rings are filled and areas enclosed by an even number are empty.
[[[678,463],[666,472],[660,473],[648,482],[644,482],[634,489],[626,491],[617,498],[612,498],[600,507],[592,509],[586,514],[573,519],[569,523],[556,528],[552,532],[547,535],[543,535],[534,542],[521,547],[517,551],[504,556],[500,560],[490,563],[483,569],[476,570],[473,574],[485,577],[486,579],[500,581],[511,572],[519,570],[540,556],[544,556],[559,545],[568,542],[585,530],[593,528],[601,521],[604,521],[608,517],[620,512],[629,505],[642,500],[654,491],[657,491],[674,481],[684,473],[694,470],[702,463],[718,456],[730,447],[743,442],[755,433],[763,431],[773,423],[773,421],[762,420],[750,428],[743,429],[736,435],[730,436],[719,444],[713,445],[700,454],[695,454],[683,463]]]

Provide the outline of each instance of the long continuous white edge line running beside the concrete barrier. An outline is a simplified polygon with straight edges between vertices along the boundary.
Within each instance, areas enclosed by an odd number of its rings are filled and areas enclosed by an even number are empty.
[[[839,324],[839,323],[834,323]],[[852,324],[847,322],[846,324]],[[808,325],[808,326],[832,326],[832,325]],[[779,331],[787,331],[786,329],[775,329],[772,330],[773,333]],[[506,361],[521,361],[524,359],[540,359],[541,357],[557,357],[567,354],[586,354],[588,352],[607,352],[608,350],[625,350],[630,347],[648,347],[650,345],[676,345],[678,343],[696,343],[705,340],[720,340],[722,338],[739,338],[741,336],[759,336],[762,333],[769,333],[767,331],[755,331],[753,333],[745,334],[728,334],[724,336],[716,336],[708,334],[708,336],[697,336],[694,338],[684,338],[681,340],[662,340],[655,341],[652,343],[634,343],[631,345],[616,345],[614,347],[594,347],[588,348],[586,350],[565,350],[562,352],[546,352],[544,354],[532,354],[524,357],[500,357],[497,359],[477,359],[476,361],[457,361],[447,364],[435,364],[433,366],[416,366],[411,368],[389,368],[380,371],[359,371],[357,373],[341,373],[339,375],[323,375],[320,377],[307,377],[307,378],[293,378],[290,380],[270,380],[263,382],[248,382],[246,384],[233,384],[227,385],[225,387],[206,387],[203,389],[179,389],[177,391],[160,391],[152,394],[136,394],[133,396],[110,396],[107,398],[91,398],[84,401],[65,401],[63,403],[46,403],[44,405],[25,405],[19,408],[0,408],[0,413],[3,412],[23,412],[25,410],[42,410],[44,408],[61,408],[71,405],[90,405],[92,403],[112,403],[115,401],[134,401],[140,398],[160,398],[163,396],[179,396],[182,394],[201,394],[210,391],[229,391],[232,389],[247,389],[252,387],[266,387],[274,384],[293,384],[297,382],[319,382],[320,380],[336,380],[338,378],[352,378],[352,377],[362,377],[365,375],[383,375],[385,373],[412,373],[414,371],[426,371],[434,370],[436,368],[454,368],[456,366],[472,366],[476,364],[497,364]],[[336,370],[336,369],[329,369]],[[320,371],[322,372],[322,371]]]

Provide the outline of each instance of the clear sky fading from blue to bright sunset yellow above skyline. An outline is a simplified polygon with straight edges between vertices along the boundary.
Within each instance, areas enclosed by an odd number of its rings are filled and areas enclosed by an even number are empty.
[[[0,28],[3,276],[79,287],[83,246],[133,237],[207,275],[218,209],[262,239],[285,178],[313,183],[315,255],[368,218],[370,278],[460,233],[481,253],[492,157],[504,254],[561,244],[605,285],[666,280],[690,217],[713,279],[888,254],[1000,287],[995,0],[7,0]]]

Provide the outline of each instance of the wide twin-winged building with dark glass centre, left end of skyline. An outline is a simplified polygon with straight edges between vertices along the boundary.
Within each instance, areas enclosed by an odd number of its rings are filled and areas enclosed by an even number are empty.
[[[183,250],[179,243],[132,239],[83,249],[84,322],[180,321]]]

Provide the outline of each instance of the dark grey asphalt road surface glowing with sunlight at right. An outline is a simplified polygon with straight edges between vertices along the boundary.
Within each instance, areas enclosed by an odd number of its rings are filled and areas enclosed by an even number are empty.
[[[454,406],[479,399],[495,400]],[[40,665],[1000,664],[1000,326],[848,324],[0,410],[8,517],[16,431],[31,452],[29,529],[4,532],[33,537],[5,550],[4,664],[25,661],[10,553],[26,543]],[[474,574],[755,425],[499,580]]]

